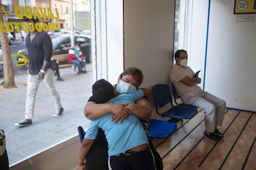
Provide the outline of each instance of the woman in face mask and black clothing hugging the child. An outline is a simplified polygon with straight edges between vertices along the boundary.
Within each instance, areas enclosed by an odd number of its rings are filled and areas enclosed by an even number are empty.
[[[122,83],[122,81],[126,82],[126,84]],[[132,86],[139,88],[140,84],[143,82],[143,73],[139,68],[135,67],[129,67],[124,70],[121,75],[119,76],[117,80],[117,86],[114,85],[114,91],[116,92],[116,95],[122,93],[122,92],[128,92],[129,91],[129,84],[132,84]],[[120,88],[120,84],[124,84],[124,88]],[[118,91],[117,91],[118,90]],[[88,102],[85,105],[85,116],[88,119],[97,119],[100,118],[103,115],[106,115],[109,112],[113,112],[113,121],[122,122],[124,119],[126,119],[129,116],[129,110],[133,111],[134,115],[137,115],[139,118],[142,116],[147,116],[148,114],[151,114],[151,106],[148,103],[148,100],[150,99],[150,91],[147,89],[143,89],[144,91],[144,97],[137,100],[135,104],[133,105],[124,105],[119,103],[106,103],[108,100],[111,99],[109,97],[108,93],[104,93],[105,95],[100,95],[100,97],[95,99],[93,95],[90,97]],[[105,89],[106,92],[107,88]],[[144,128],[144,131],[149,134],[150,132],[150,124],[148,124],[148,121],[142,121],[142,125]],[[148,142],[150,145],[151,152],[153,153],[153,156],[155,158],[155,164],[156,164],[156,170],[163,170],[163,161],[161,159],[161,156],[157,152],[155,146],[151,142],[150,137],[148,137]],[[97,139],[94,140],[92,148],[90,149],[90,152],[88,153],[86,157],[86,169],[102,169],[102,170],[108,170],[108,145],[106,142],[106,137],[102,129],[98,130],[98,136]],[[100,163],[99,163],[100,162]]]

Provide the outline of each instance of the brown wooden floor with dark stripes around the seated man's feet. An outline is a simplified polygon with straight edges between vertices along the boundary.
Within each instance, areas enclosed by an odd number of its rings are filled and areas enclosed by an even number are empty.
[[[154,139],[164,169],[256,169],[256,114],[228,110],[220,131],[225,137],[211,142],[203,137],[204,114],[177,123],[168,139]]]

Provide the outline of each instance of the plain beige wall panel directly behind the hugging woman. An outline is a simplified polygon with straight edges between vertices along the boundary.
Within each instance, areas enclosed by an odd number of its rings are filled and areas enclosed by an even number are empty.
[[[174,0],[124,1],[124,67],[142,70],[141,87],[168,83],[173,33]],[[152,100],[150,103],[153,106]],[[153,113],[155,116],[160,118]]]

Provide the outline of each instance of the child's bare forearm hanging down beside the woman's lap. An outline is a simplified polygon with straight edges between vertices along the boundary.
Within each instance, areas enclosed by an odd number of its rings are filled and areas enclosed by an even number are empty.
[[[80,151],[79,151],[79,170],[83,170],[83,168],[85,167],[85,158],[90,150],[90,148],[93,145],[94,140],[93,139],[86,139],[83,138],[83,142],[82,145],[80,147]]]

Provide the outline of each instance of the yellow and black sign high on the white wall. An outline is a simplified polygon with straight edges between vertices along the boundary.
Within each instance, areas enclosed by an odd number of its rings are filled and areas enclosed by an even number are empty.
[[[235,0],[234,14],[256,14],[256,0]]]

